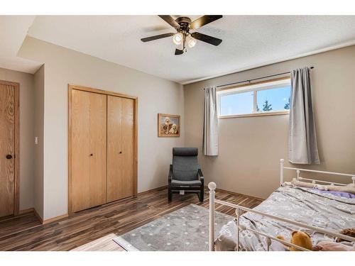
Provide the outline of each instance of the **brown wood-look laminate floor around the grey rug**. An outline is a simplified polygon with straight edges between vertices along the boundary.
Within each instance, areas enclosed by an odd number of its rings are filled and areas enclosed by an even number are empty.
[[[217,199],[253,208],[261,199],[217,190]],[[173,195],[168,203],[166,188],[155,189],[72,214],[40,226],[23,227],[23,223],[6,224],[6,234],[0,235],[0,250],[122,250],[112,238],[143,226],[170,211],[188,204],[208,208],[208,190],[203,203],[196,194]],[[234,209],[217,204],[217,211],[234,215]],[[21,219],[21,218],[20,218]],[[0,221],[0,231],[4,224]],[[13,233],[11,233],[13,232]]]

